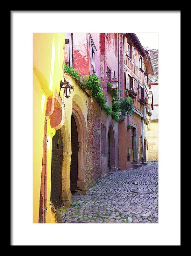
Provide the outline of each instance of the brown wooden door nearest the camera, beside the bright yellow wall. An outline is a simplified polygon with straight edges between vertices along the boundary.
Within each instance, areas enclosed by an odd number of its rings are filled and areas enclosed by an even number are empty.
[[[50,199],[55,208],[62,204],[62,154],[63,143],[61,130],[56,130],[52,140],[52,172]]]

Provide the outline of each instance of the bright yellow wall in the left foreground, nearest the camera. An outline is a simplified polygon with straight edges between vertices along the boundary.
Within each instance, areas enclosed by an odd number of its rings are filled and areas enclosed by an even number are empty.
[[[60,91],[63,78],[64,33],[33,34],[33,223],[39,221],[43,136],[46,104]],[[50,208],[51,145],[55,129],[47,119],[47,212],[46,223],[53,222]]]

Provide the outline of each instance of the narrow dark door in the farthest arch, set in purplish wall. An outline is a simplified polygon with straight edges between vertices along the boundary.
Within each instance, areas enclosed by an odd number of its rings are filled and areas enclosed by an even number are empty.
[[[108,168],[115,167],[115,137],[113,127],[110,125],[108,131],[108,143],[107,143],[107,155],[108,155]]]

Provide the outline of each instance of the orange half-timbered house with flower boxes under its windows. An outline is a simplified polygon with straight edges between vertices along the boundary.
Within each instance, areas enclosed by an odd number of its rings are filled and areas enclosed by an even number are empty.
[[[148,51],[141,45],[135,33],[124,33],[120,36],[120,89],[121,97],[128,97],[129,90],[137,93],[133,97],[133,115],[119,122],[119,168],[129,169],[139,167],[146,162],[147,133],[144,124],[149,124],[147,105],[141,99],[148,101],[148,74],[153,74],[151,59]],[[131,129],[127,131],[127,125]],[[124,143],[125,141],[125,143]]]

